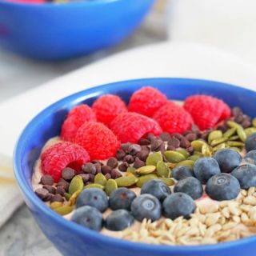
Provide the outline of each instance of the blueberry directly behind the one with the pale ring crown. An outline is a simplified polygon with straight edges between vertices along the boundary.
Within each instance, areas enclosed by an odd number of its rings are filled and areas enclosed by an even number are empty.
[[[151,179],[142,186],[141,194],[152,194],[162,202],[171,193],[170,187],[160,179]]]

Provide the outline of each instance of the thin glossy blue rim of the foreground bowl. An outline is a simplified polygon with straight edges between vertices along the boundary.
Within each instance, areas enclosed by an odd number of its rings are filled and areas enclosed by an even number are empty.
[[[142,78],[142,79],[134,79],[134,80],[126,80],[121,82],[111,82],[102,86],[96,86],[87,90],[82,90],[78,93],[71,94],[70,96],[67,96],[66,98],[62,98],[58,102],[55,102],[54,104],[51,104],[50,106],[46,107],[46,109],[42,110],[38,115],[36,115],[24,128],[22,131],[22,134],[18,138],[18,142],[14,148],[14,174],[15,178],[18,182],[18,185],[20,189],[22,190],[23,194],[26,195],[26,198],[28,198],[29,202],[32,202],[34,206],[36,206],[37,210],[40,210],[43,214],[46,214],[49,218],[52,218],[54,222],[58,222],[60,226],[65,227],[67,230],[74,230],[78,234],[85,234],[86,236],[90,236],[90,238],[95,238],[97,241],[101,242],[111,242],[111,245],[118,246],[119,248],[128,248],[129,246],[133,246],[134,250],[153,250],[155,252],[161,253],[161,252],[182,252],[182,253],[194,253],[197,251],[204,251],[204,250],[223,250],[227,249],[233,246],[239,246],[242,244],[250,243],[250,242],[256,242],[256,236],[250,237],[250,238],[242,238],[233,242],[223,242],[218,243],[216,245],[205,245],[205,246],[159,246],[159,245],[148,245],[141,242],[130,242],[127,240],[122,240],[120,238],[112,238],[103,234],[100,234],[98,232],[86,229],[82,226],[79,226],[78,224],[74,222],[67,221],[65,218],[61,217],[60,215],[54,213],[53,210],[50,210],[49,206],[46,206],[45,203],[43,203],[37,196],[34,194],[33,190],[29,185],[27,185],[26,178],[24,175],[22,175],[22,171],[19,172],[19,169],[22,169],[19,162],[21,159],[21,146],[22,141],[24,138],[26,138],[26,134],[28,131],[40,120],[42,117],[46,118],[48,113],[52,113],[52,111],[58,109],[59,107],[63,107],[64,102],[74,102],[75,100],[78,100],[78,98],[83,98],[85,95],[95,95],[100,94],[101,90],[104,90],[104,88],[108,86],[117,86],[118,84],[123,83],[141,83],[145,82],[145,84],[152,84],[154,86],[154,81],[162,80],[162,82],[170,81],[170,82],[181,82],[182,83],[188,83],[190,85],[196,84],[197,86],[203,86],[205,83],[208,84],[208,86],[214,86],[215,89],[223,89],[223,87],[226,87],[227,89],[230,89],[232,87],[234,90],[237,91],[238,94],[256,94],[253,90],[248,90],[239,86],[230,85],[223,82],[215,82],[210,80],[201,80],[201,79],[193,79],[193,78]],[[25,141],[25,140],[24,140]]]

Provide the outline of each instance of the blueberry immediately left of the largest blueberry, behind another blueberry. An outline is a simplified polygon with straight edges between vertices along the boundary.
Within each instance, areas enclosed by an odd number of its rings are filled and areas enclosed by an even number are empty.
[[[175,184],[174,192],[186,193],[195,200],[202,197],[203,188],[201,182],[197,178],[187,177],[180,179]]]

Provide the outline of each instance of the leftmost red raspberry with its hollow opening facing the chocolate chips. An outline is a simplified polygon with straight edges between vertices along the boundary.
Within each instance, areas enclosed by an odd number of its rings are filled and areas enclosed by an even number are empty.
[[[42,152],[41,161],[42,173],[50,174],[54,182],[58,182],[65,167],[78,171],[84,163],[90,161],[90,156],[82,146],[71,142],[58,142]]]

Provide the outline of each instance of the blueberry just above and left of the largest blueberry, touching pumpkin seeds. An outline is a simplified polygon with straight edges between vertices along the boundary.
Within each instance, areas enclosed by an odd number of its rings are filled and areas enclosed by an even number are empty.
[[[220,172],[218,162],[214,158],[199,158],[194,163],[194,176],[202,184],[206,184],[210,177]]]

